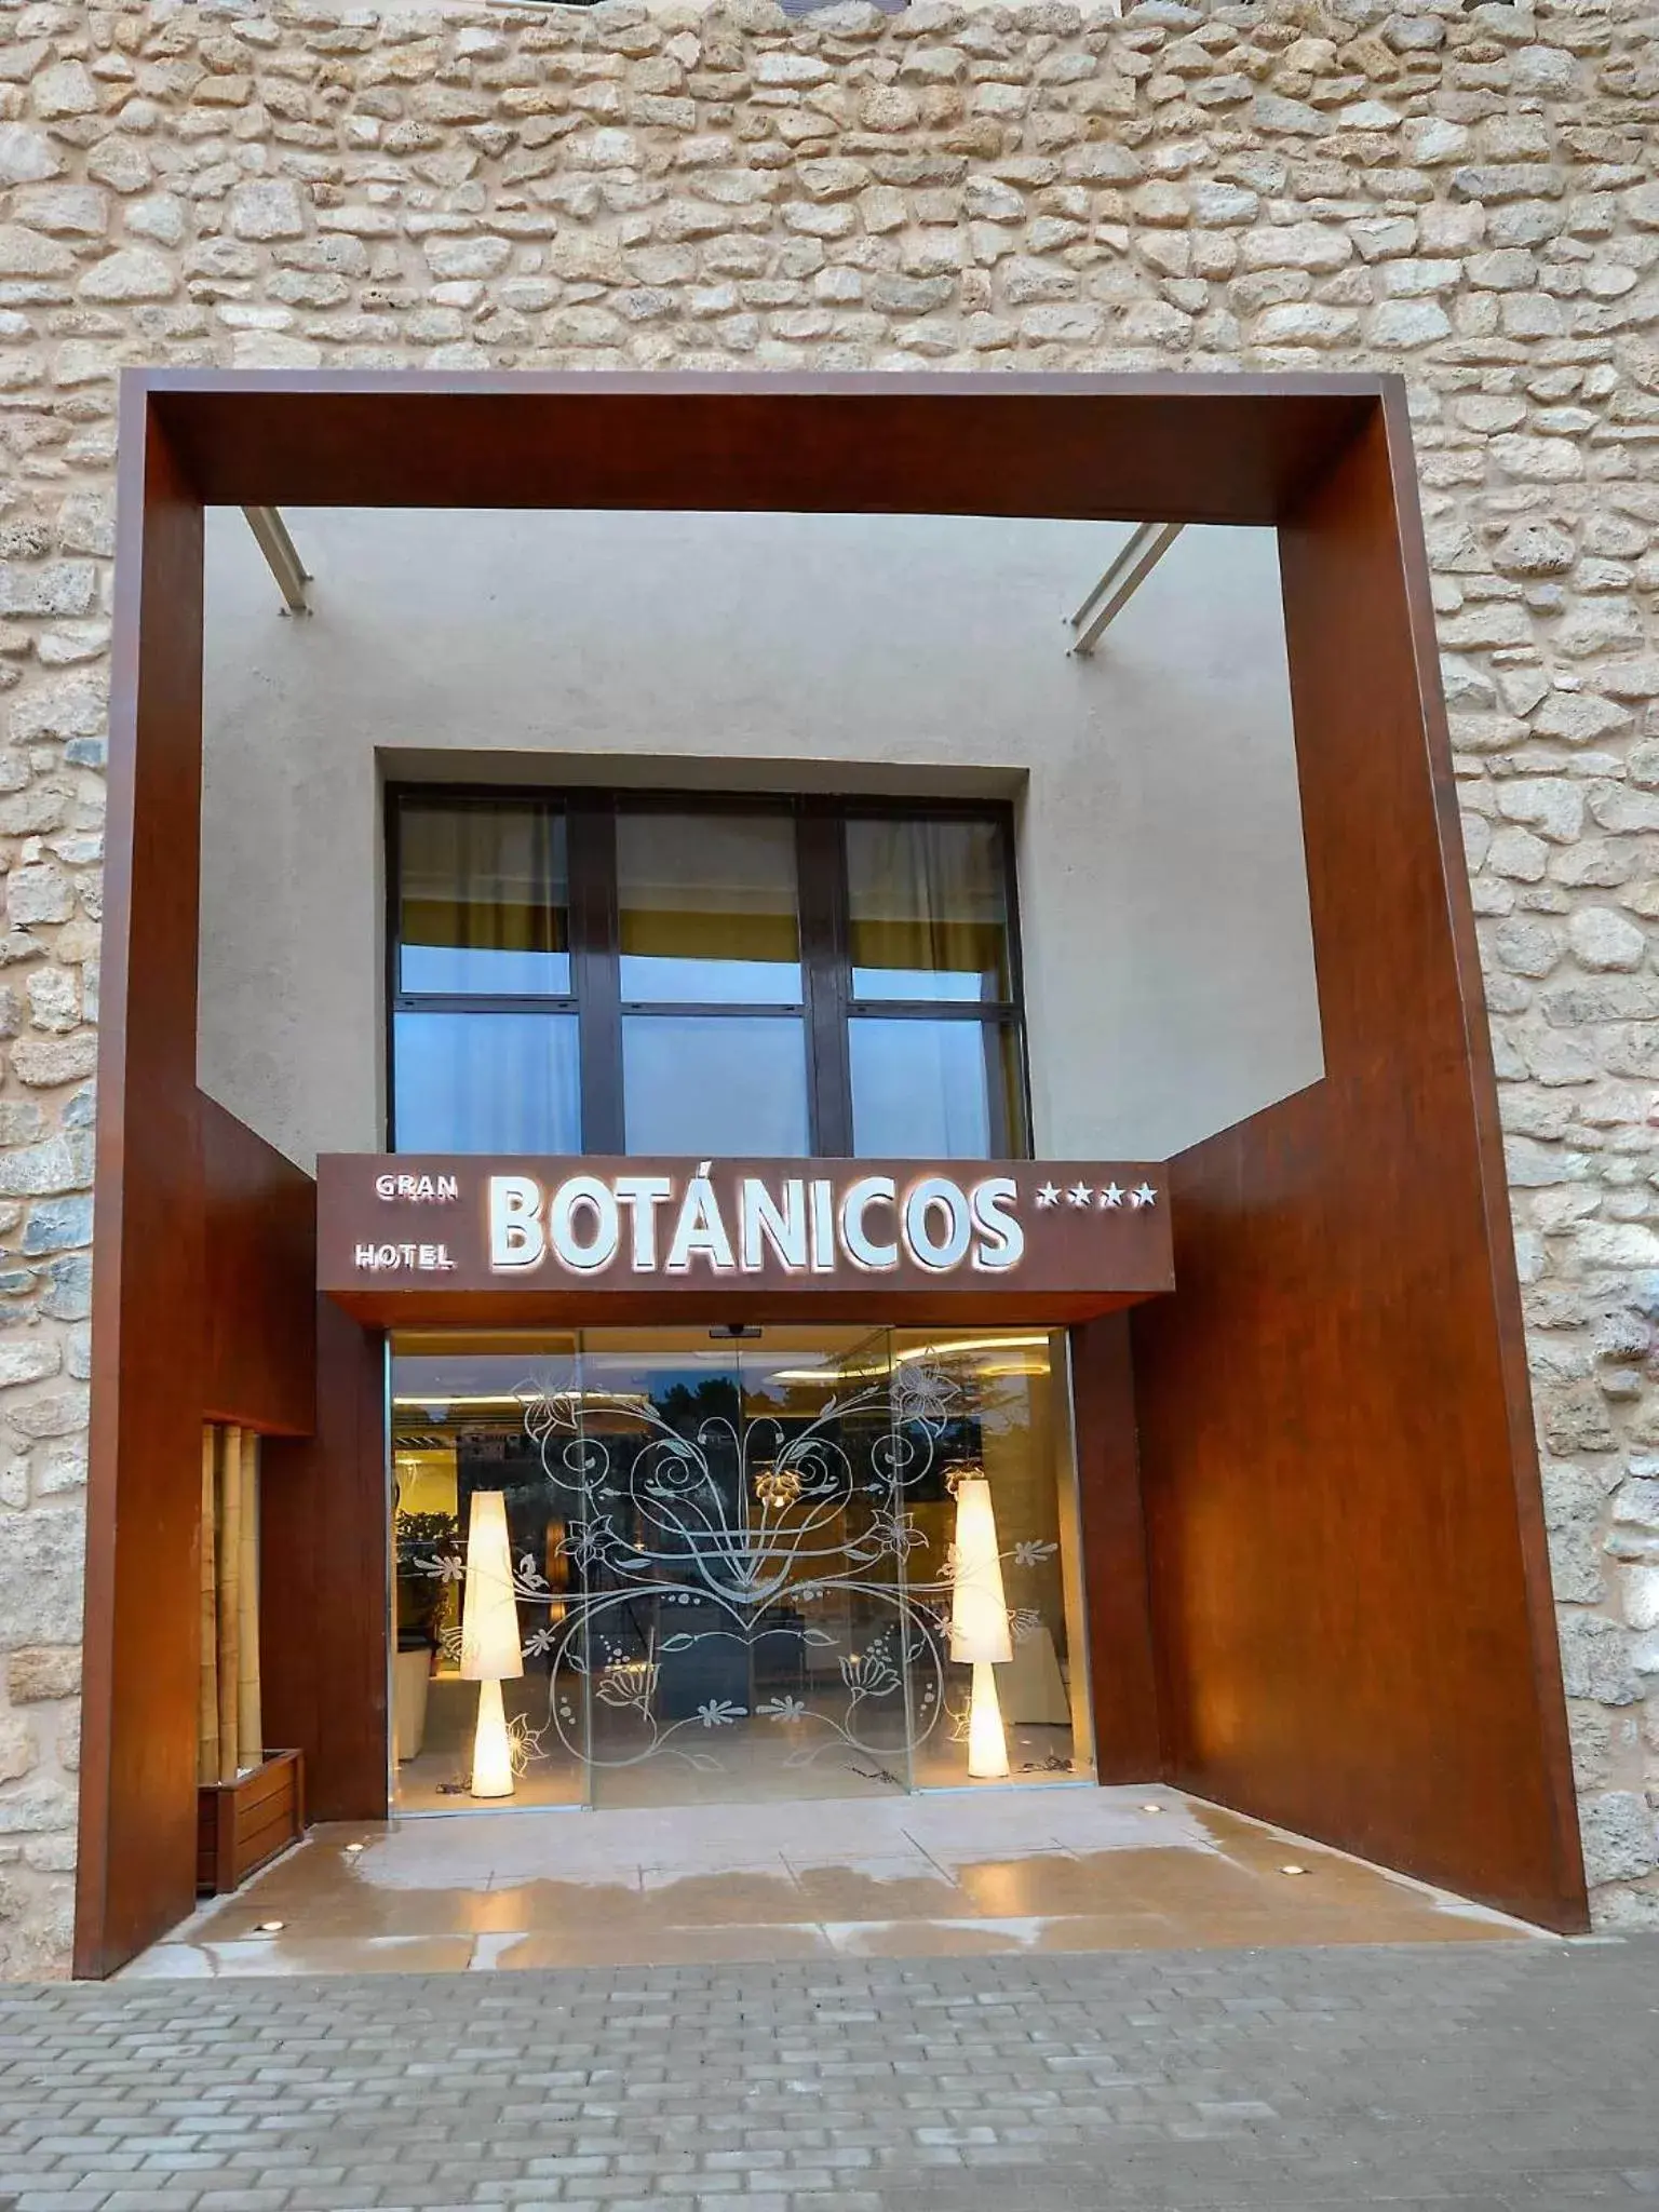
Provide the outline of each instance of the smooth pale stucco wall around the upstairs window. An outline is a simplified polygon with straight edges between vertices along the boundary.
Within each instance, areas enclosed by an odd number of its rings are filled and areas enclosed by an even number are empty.
[[[378,776],[1015,801],[1033,1124],[1166,1159],[1321,1073],[1270,531],[1194,529],[1086,659],[1121,524],[305,513],[290,622],[208,540],[201,1084],[383,1141]],[[502,754],[507,761],[502,761]],[[719,765],[714,765],[719,763]]]

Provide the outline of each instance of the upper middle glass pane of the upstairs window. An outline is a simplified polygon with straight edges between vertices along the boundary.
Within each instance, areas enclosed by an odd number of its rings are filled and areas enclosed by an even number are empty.
[[[794,821],[619,814],[622,998],[801,1004]]]

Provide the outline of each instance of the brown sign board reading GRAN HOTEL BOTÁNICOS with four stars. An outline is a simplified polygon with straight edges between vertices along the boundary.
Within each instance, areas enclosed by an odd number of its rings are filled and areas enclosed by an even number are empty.
[[[646,1294],[825,1312],[836,1292],[869,1314],[922,1292],[1099,1312],[1170,1287],[1170,1230],[1148,1161],[334,1155],[319,1263],[365,1314],[451,1314],[482,1292],[573,1316]]]

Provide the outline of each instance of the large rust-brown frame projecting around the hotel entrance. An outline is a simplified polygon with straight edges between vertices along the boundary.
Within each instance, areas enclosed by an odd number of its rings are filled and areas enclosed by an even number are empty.
[[[1073,1336],[1102,1774],[1584,1927],[1402,383],[161,369],[122,378],[77,1973],[192,1905],[206,1411],[294,1438],[272,1741],[385,1805],[376,1347],[310,1301],[305,1177],[195,1088],[204,504],[1279,531],[1325,1077],[1170,1164],[1175,1298]]]

